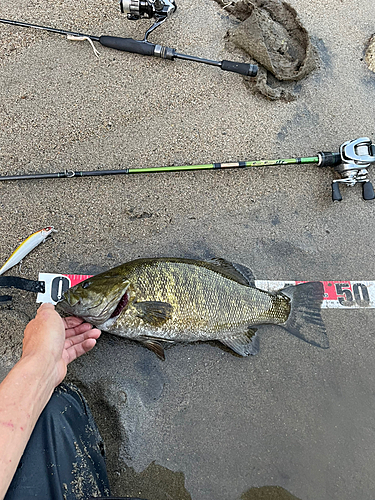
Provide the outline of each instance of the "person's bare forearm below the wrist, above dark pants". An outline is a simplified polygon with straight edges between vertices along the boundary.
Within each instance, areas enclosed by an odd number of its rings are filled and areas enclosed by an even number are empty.
[[[22,358],[0,384],[0,500],[54,387],[53,367],[34,356]]]

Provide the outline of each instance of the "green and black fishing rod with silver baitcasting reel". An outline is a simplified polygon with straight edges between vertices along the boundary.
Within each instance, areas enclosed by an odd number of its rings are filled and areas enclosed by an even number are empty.
[[[353,141],[344,142],[340,146],[338,153],[320,152],[317,156],[305,158],[289,158],[277,160],[255,160],[240,161],[231,163],[210,163],[206,165],[184,165],[148,168],[125,168],[116,170],[83,170],[64,172],[52,172],[42,174],[21,174],[0,176],[0,181],[16,181],[31,179],[56,179],[73,177],[90,177],[104,175],[122,174],[151,174],[157,172],[181,172],[190,170],[220,170],[230,168],[247,167],[273,167],[279,165],[304,165],[316,164],[319,167],[334,167],[335,171],[341,175],[340,179],[332,181],[332,200],[341,201],[340,184],[355,186],[362,184],[362,196],[364,200],[375,198],[374,188],[368,177],[368,168],[375,163],[375,145],[368,137],[361,137]]]

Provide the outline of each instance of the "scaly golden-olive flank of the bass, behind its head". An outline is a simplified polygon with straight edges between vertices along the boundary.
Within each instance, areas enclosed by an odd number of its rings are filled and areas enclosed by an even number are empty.
[[[286,321],[288,299],[248,287],[187,262],[154,260],[125,272],[138,302],[167,302],[172,318],[157,328],[163,338],[218,339],[249,325]],[[117,327],[129,328],[131,317],[122,314]]]

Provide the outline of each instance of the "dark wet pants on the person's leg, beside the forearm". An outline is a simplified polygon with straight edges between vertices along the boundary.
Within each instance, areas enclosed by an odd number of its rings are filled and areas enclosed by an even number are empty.
[[[60,385],[42,412],[5,500],[109,497],[104,445],[85,399]]]

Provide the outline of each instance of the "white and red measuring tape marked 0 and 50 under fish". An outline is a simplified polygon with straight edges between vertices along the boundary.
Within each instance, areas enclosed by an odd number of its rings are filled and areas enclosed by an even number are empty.
[[[88,274],[39,273],[39,281],[45,283],[45,291],[38,293],[37,302],[56,304],[68,288],[91,278]],[[275,292],[304,281],[255,280],[261,290]],[[324,298],[322,309],[375,308],[375,281],[322,281]]]

